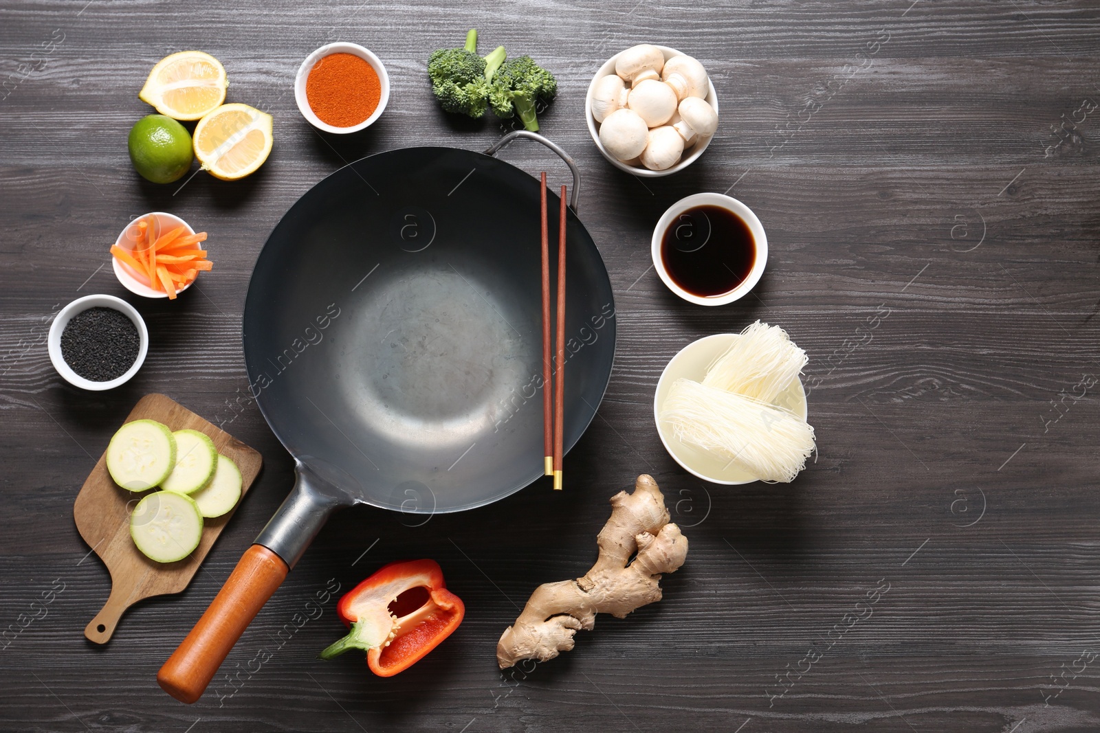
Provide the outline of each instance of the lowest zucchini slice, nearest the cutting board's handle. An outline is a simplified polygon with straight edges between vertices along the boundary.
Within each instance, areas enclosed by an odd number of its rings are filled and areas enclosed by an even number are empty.
[[[202,514],[190,497],[156,491],[134,507],[130,514],[130,536],[151,560],[175,563],[199,546]]]

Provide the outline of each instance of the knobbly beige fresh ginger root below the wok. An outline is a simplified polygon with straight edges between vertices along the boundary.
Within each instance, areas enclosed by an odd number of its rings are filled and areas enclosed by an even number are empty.
[[[658,581],[688,555],[688,538],[669,522],[664,495],[652,476],[642,474],[634,493],[612,497],[612,517],[600,531],[600,557],[583,578],[539,586],[515,625],[496,644],[501,669],[521,659],[546,662],[573,648],[579,629],[591,631],[596,613],[616,619],[661,600]],[[637,553],[627,565],[630,556]]]

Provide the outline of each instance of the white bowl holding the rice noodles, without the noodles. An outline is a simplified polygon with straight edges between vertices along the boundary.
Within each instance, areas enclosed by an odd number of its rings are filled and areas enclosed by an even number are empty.
[[[661,420],[661,407],[672,382],[680,378],[702,381],[707,368],[739,337],[740,334],[737,333],[716,333],[688,344],[664,367],[657,382],[657,392],[653,395],[653,420],[664,448],[684,470],[712,484],[751,484],[759,479],[729,460],[678,441],[672,433],[672,426]],[[805,420],[806,392],[802,389],[802,380],[792,381],[791,386],[776,398],[774,404],[784,407]]]

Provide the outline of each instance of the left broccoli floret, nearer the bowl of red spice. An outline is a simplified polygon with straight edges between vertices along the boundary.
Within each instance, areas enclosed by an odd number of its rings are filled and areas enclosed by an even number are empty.
[[[448,112],[472,118],[485,115],[490,81],[505,59],[504,46],[485,58],[477,55],[477,31],[471,29],[463,48],[440,48],[428,58],[431,91]]]

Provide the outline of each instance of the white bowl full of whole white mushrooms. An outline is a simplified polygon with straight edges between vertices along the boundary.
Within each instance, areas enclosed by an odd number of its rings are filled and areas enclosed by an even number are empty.
[[[694,163],[718,127],[718,97],[703,65],[648,43],[600,67],[584,111],[600,153],[616,168],[651,178]]]

